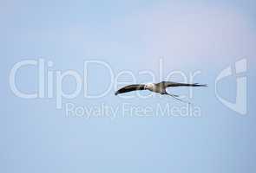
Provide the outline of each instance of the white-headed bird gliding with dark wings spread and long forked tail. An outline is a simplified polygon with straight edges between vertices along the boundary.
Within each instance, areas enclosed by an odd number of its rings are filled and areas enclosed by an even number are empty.
[[[128,93],[136,90],[149,90],[154,93],[161,93],[172,96],[174,99],[178,99],[181,102],[185,102],[184,100],[179,98],[179,95],[174,95],[167,93],[167,87],[176,87],[176,86],[207,86],[207,85],[200,85],[198,83],[194,84],[187,84],[187,83],[178,83],[173,81],[161,81],[160,83],[149,83],[149,84],[134,84],[129,86],[121,87],[119,90],[115,92],[115,95],[120,93]]]

